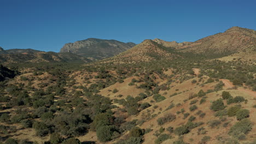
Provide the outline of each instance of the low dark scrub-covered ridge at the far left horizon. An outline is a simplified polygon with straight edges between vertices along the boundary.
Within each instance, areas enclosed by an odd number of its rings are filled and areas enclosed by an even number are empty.
[[[68,52],[24,52],[0,55],[0,62],[8,64],[26,62],[90,62],[90,60],[85,57],[78,56]]]

